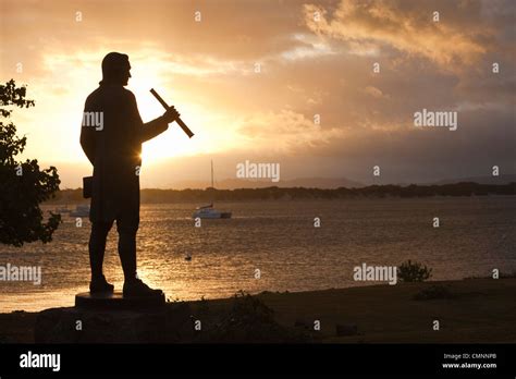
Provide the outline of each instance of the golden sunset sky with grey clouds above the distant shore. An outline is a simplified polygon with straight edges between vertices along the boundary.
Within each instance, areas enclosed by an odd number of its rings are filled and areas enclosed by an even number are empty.
[[[62,188],[91,172],[82,112],[110,51],[130,56],[144,121],[163,112],[153,87],[195,133],[144,144],[143,187],[208,183],[211,159],[216,181],[246,160],[281,180],[513,174],[515,15],[511,0],[0,0],[0,81],[27,85],[23,158]],[[415,126],[422,109],[457,112],[457,130]]]

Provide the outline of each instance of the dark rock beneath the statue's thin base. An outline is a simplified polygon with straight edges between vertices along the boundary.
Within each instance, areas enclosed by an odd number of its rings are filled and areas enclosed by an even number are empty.
[[[193,338],[187,304],[153,310],[46,309],[36,318],[36,343],[168,343]]]

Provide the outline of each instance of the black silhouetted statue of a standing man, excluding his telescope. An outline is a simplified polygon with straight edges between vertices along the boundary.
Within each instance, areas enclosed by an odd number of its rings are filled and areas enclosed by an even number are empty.
[[[102,273],[102,262],[106,239],[116,220],[124,296],[161,296],[161,290],[150,289],[136,274],[140,152],[142,143],[164,132],[180,114],[171,107],[144,124],[133,93],[124,88],[130,70],[126,54],[108,53],[102,60],[100,86],[88,96],[84,108],[81,145],[94,166],[89,289],[91,293],[113,291]]]

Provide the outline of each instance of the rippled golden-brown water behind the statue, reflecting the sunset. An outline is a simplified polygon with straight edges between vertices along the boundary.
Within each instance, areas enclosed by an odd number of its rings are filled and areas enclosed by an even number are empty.
[[[353,281],[353,268],[363,262],[411,259],[433,268],[432,280],[516,271],[516,197],[219,203],[233,219],[202,220],[201,228],[194,228],[194,208],[142,206],[138,274],[170,299],[364,285]],[[316,217],[320,228],[314,228]],[[72,306],[76,293],[88,291],[89,221],[76,228],[74,218],[63,219],[50,244],[0,246],[0,265],[42,271],[40,285],[0,281],[0,313]],[[105,273],[121,289],[116,240],[113,227]]]

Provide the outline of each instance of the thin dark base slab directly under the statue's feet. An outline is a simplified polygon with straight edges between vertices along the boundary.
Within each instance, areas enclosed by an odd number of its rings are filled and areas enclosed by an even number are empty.
[[[115,291],[107,294],[83,292],[75,295],[75,307],[81,309],[144,310],[160,308],[164,304],[164,294],[152,297],[124,297],[122,292]]]

